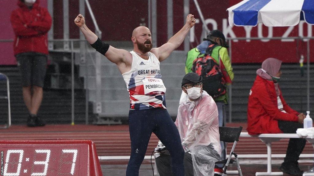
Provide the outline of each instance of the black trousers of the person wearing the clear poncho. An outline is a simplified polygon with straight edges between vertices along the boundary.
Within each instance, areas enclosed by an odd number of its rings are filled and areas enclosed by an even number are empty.
[[[160,156],[155,159],[155,162],[160,176],[173,176],[170,155],[160,153]],[[189,152],[184,154],[183,163],[185,176],[194,176],[192,155]]]

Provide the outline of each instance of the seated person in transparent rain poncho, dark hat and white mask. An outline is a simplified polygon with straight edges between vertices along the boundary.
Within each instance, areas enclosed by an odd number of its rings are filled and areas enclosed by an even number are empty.
[[[214,175],[214,164],[221,157],[217,106],[202,87],[202,77],[196,73],[188,73],[182,80],[187,98],[178,108],[175,124],[185,151],[186,176]],[[161,148],[164,146],[159,142],[156,151]],[[169,153],[155,153],[155,158],[160,176],[171,176]]]

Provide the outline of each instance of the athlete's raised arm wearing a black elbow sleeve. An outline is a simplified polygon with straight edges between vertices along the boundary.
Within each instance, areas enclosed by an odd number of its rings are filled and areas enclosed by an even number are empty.
[[[124,49],[116,49],[109,44],[102,42],[95,33],[93,33],[85,24],[85,18],[79,14],[74,23],[79,27],[85,36],[85,39],[91,44],[98,52],[105,55],[108,60],[118,65],[121,72],[126,72],[123,68],[132,64],[132,54]],[[123,68],[122,68],[123,67]],[[121,70],[122,69],[122,70]],[[127,70],[127,69],[126,69]]]

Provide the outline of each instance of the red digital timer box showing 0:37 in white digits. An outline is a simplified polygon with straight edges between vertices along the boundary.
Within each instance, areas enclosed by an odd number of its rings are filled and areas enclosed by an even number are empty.
[[[91,141],[0,141],[1,175],[102,176]]]

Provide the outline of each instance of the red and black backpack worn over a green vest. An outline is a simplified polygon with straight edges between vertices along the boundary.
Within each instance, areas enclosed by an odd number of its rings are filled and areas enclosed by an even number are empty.
[[[213,49],[218,46],[211,44],[205,55],[193,61],[192,72],[203,77],[203,90],[213,98],[226,94],[225,79],[216,60],[211,56]]]

